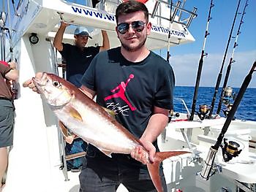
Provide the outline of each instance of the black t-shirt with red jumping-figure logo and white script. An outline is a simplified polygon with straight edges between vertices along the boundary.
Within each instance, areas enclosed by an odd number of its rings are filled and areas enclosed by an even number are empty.
[[[116,112],[118,122],[138,138],[154,106],[173,109],[173,69],[153,52],[138,63],[127,61],[120,47],[101,52],[81,82],[96,91],[97,103]]]

